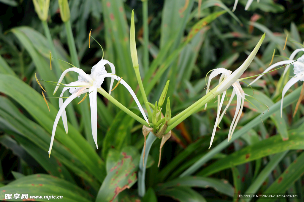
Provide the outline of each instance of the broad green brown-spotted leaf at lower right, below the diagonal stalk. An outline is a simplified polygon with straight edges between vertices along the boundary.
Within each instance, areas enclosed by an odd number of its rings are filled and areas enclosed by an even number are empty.
[[[287,141],[283,141],[279,135],[272,136],[216,161],[200,171],[198,175],[209,176],[227,169],[230,167],[230,162],[233,162],[234,165],[240,165],[282,151],[304,149],[303,138],[303,130],[289,131],[289,139]]]

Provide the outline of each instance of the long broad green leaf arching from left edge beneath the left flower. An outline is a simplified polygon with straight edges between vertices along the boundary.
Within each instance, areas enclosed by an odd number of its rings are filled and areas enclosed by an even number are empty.
[[[23,81],[10,75],[0,75],[0,92],[16,100],[48,133],[51,134],[57,110],[53,105],[49,104],[49,112],[45,106],[43,97],[38,92]],[[68,124],[68,128],[69,133],[66,134],[62,122],[59,122],[55,139],[69,148],[88,170],[102,182],[106,173],[104,162],[71,124]]]

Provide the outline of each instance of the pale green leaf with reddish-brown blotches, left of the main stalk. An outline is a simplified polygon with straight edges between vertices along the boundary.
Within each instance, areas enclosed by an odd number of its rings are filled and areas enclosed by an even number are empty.
[[[96,202],[113,201],[125,189],[137,181],[137,168],[140,155],[135,147],[124,147],[119,161],[109,170],[98,191]]]

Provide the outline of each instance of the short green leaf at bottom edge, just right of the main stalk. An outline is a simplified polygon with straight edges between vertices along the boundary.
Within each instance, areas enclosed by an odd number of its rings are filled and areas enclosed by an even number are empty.
[[[165,189],[158,193],[161,196],[168,196],[180,202],[206,202],[206,199],[189,187],[174,187]]]

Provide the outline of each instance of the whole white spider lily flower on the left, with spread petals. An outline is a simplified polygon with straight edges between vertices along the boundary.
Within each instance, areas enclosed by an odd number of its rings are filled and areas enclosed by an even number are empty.
[[[105,71],[105,64],[110,65],[112,73],[107,73],[107,71]],[[57,113],[57,116],[55,118],[54,125],[53,125],[49,155],[51,154],[54,137],[55,137],[55,131],[56,131],[56,127],[57,127],[58,121],[60,119],[60,116],[62,117],[64,129],[67,133],[67,116],[66,116],[65,108],[74,98],[79,97],[81,94],[84,94],[86,92],[89,92],[89,99],[90,99],[92,135],[93,135],[93,139],[96,144],[96,147],[98,149],[98,145],[97,145],[97,101],[96,101],[97,88],[100,88],[101,84],[104,81],[104,78],[106,78],[106,77],[112,78],[109,94],[111,94],[111,89],[113,86],[114,79],[116,79],[117,81],[120,81],[120,83],[123,84],[127,88],[127,90],[130,92],[130,94],[134,98],[136,104],[138,105],[140,112],[143,114],[144,119],[147,121],[147,123],[149,123],[148,119],[143,111],[143,108],[141,107],[140,102],[138,101],[134,91],[123,79],[121,79],[117,75],[115,75],[115,67],[109,61],[107,61],[107,60],[99,61],[96,65],[93,66],[90,75],[86,74],[82,69],[79,69],[76,67],[69,68],[62,73],[58,83],[60,83],[63,80],[64,76],[69,71],[74,71],[79,74],[78,81],[74,81],[74,82],[67,84],[63,88],[62,93],[60,95],[60,97],[61,97],[61,98],[59,98],[60,109]],[[56,93],[57,89],[59,88],[59,85],[60,84],[57,84],[57,86],[54,90],[54,94]],[[63,93],[68,89],[72,95],[63,102],[63,99],[62,99]]]

